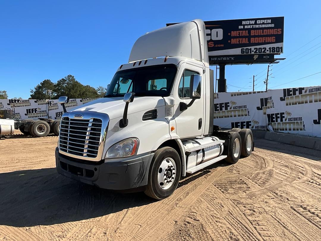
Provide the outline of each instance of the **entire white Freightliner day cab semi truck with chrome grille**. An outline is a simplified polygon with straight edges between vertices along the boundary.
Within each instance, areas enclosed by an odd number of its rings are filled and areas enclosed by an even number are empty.
[[[249,156],[250,129],[222,131],[213,125],[213,83],[202,20],[146,33],[104,98],[62,116],[58,173],[164,199],[182,176]]]

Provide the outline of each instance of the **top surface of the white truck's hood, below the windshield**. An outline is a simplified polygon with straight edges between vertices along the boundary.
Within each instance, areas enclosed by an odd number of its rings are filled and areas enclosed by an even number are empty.
[[[165,101],[160,96],[144,96],[144,97],[135,97],[132,103],[129,103],[128,106],[128,115],[140,112],[144,110],[154,109],[156,107],[161,107],[165,105]],[[73,111],[95,111],[106,113],[109,115],[110,120],[119,118],[123,116],[125,108],[125,102],[123,97],[107,97],[99,98],[93,100],[82,106],[74,108]]]

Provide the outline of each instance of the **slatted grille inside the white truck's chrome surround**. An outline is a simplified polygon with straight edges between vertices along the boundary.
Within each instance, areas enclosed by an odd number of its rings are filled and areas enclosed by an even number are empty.
[[[60,124],[59,149],[68,154],[95,158],[100,147],[102,120],[63,117]]]

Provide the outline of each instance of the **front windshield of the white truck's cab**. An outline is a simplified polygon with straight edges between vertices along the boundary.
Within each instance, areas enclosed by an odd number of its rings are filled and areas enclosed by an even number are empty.
[[[172,64],[118,71],[105,97],[124,96],[127,92],[134,92],[135,96],[168,96],[176,71]]]

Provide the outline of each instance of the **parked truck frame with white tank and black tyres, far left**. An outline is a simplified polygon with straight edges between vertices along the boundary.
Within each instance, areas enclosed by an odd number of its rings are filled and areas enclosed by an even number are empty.
[[[24,135],[44,137],[49,133],[59,135],[60,120],[54,121],[47,118],[39,120],[18,120],[14,118],[11,109],[0,110],[0,135],[12,135],[14,129],[19,129]]]

